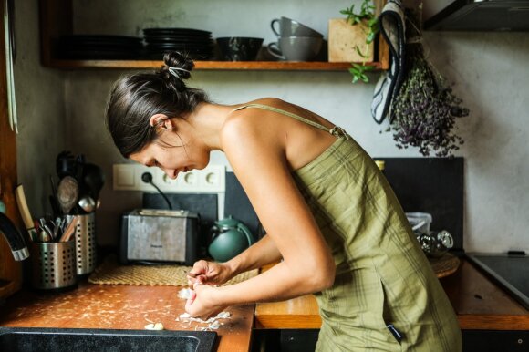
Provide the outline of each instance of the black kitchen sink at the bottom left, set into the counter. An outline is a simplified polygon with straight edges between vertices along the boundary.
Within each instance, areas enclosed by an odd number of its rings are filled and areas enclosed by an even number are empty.
[[[0,327],[0,346],[10,352],[210,352],[216,336],[213,331]]]

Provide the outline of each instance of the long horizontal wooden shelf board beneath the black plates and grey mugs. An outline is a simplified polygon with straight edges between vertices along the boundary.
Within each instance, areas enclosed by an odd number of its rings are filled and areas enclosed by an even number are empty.
[[[62,60],[50,59],[45,66],[61,69],[78,68],[159,68],[162,61],[150,60]],[[385,69],[382,63],[369,63],[376,69]],[[348,62],[295,62],[295,61],[195,61],[199,70],[285,70],[285,71],[344,71],[351,67]]]

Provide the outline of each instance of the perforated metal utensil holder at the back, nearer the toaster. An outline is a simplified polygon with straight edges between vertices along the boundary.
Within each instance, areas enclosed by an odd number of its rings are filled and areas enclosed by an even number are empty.
[[[96,215],[78,215],[75,233],[77,274],[90,274],[96,267]]]

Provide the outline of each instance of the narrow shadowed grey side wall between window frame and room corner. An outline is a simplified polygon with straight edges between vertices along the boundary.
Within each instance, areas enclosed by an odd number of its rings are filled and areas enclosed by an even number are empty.
[[[38,21],[37,2],[16,2],[17,172],[34,217],[49,212],[49,176],[57,178],[55,157],[67,146],[65,73],[40,65]]]

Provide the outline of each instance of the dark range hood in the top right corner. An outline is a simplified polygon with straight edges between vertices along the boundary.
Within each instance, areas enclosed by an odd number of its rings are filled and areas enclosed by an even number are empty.
[[[426,30],[529,31],[529,0],[426,0]]]

